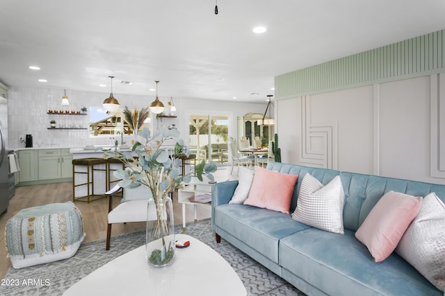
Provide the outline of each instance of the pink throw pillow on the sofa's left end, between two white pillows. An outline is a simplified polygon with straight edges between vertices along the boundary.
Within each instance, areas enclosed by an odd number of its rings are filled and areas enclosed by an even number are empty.
[[[288,175],[255,167],[255,176],[244,204],[289,214],[293,187],[298,175]]]

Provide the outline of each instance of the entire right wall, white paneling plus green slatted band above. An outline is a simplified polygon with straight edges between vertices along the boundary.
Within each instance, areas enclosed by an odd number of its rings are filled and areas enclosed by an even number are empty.
[[[301,139],[283,161],[445,184],[444,73],[441,30],[276,76],[279,135]]]

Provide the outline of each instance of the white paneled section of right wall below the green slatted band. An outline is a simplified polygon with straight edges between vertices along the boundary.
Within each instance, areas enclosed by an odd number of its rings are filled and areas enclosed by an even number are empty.
[[[277,101],[283,162],[445,184],[444,94],[432,75]]]

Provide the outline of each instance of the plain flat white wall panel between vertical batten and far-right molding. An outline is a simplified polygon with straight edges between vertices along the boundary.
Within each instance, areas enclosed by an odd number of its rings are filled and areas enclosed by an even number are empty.
[[[380,175],[430,178],[430,76],[379,85]]]

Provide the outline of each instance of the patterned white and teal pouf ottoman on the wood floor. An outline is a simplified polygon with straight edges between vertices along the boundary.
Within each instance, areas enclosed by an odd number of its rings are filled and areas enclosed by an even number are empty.
[[[70,258],[84,237],[83,217],[73,202],[22,209],[6,223],[6,250],[13,268]]]

